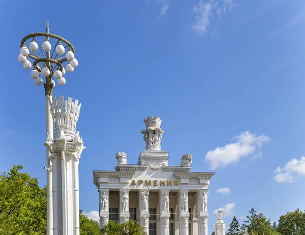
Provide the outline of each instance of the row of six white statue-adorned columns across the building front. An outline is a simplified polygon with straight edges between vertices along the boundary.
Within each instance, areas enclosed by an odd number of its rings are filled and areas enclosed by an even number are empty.
[[[117,221],[119,223],[127,222],[131,213],[129,210],[130,205],[130,189],[117,189],[118,190],[118,208],[117,208]],[[100,225],[105,226],[109,221],[109,189],[100,189]],[[189,203],[189,189],[180,189],[175,196],[174,200],[174,231],[170,233],[170,189],[160,189],[157,196],[156,216],[157,231],[156,234],[161,235],[208,235],[207,234],[207,190],[193,191],[192,204]],[[137,191],[137,209],[136,214],[137,222],[144,227],[145,232],[149,234],[149,189],[139,189]],[[156,193],[156,190],[154,190]],[[151,192],[152,193],[152,192]],[[118,199],[116,197],[116,200]],[[132,200],[134,200],[133,198]],[[111,201],[110,201],[111,202]],[[171,203],[173,204],[173,203]],[[134,203],[133,203],[134,206]],[[192,223],[189,223],[191,218],[189,207],[192,211]],[[150,218],[151,219],[151,218]],[[171,218],[173,219],[173,218]],[[150,221],[151,223],[151,221]],[[189,228],[189,225],[192,228]],[[192,234],[189,234],[189,231]]]

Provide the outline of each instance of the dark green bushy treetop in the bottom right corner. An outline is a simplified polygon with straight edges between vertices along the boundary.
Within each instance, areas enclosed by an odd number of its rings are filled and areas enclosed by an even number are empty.
[[[305,212],[296,209],[280,216],[278,232],[289,235],[305,235]]]

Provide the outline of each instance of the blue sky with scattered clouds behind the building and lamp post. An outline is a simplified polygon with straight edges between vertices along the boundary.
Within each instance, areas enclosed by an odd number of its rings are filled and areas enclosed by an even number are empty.
[[[54,95],[82,103],[83,211],[98,210],[93,170],[114,169],[119,151],[137,163],[149,115],[171,165],[190,153],[192,171],[216,172],[209,233],[218,202],[227,224],[251,208],[272,221],[304,210],[304,13],[302,0],[1,1],[0,171],[46,181],[44,89],[17,55],[49,20],[79,62]]]

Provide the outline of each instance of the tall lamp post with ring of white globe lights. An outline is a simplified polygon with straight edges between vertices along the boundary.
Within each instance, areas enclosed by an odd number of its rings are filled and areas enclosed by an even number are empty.
[[[45,37],[44,42],[39,43],[38,39]],[[49,39],[57,40],[53,50]],[[32,39],[31,42],[27,41]],[[55,86],[55,79],[59,85],[64,85],[66,79],[64,75],[67,72],[72,73],[74,68],[77,67],[78,62],[74,57],[74,47],[66,39],[49,33],[49,21],[46,22],[46,33],[33,33],[25,36],[20,43],[20,54],[18,60],[23,64],[25,69],[32,69],[32,78],[35,79],[37,85],[42,85],[45,77],[45,98],[46,98],[46,132],[47,138],[53,138],[53,123],[50,113],[49,100],[52,98],[53,89]],[[68,62],[66,70],[63,63]],[[50,152],[47,150],[47,235],[52,234],[52,166],[50,162]]]

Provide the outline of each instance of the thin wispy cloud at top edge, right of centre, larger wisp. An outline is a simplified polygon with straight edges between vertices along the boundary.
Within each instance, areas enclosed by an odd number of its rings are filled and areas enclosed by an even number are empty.
[[[222,2],[222,3],[221,3]],[[193,12],[196,14],[195,21],[192,24],[193,30],[198,34],[203,34],[210,20],[215,14],[221,18],[222,13],[230,13],[233,7],[233,0],[209,0],[203,3],[203,0],[193,7]]]

